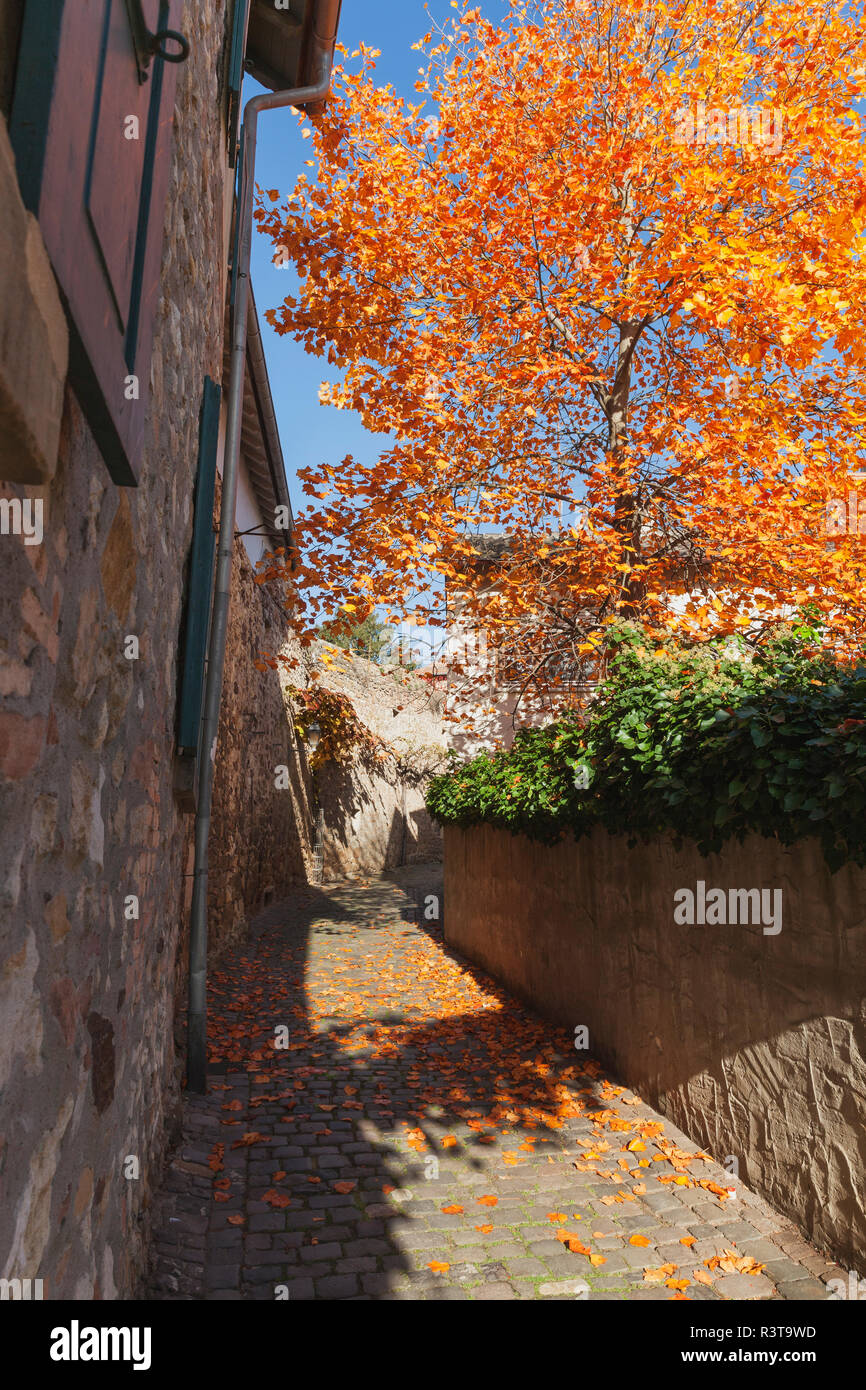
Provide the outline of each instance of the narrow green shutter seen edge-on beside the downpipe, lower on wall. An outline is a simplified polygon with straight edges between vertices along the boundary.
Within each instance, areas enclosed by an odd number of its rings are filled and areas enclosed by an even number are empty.
[[[217,548],[217,537],[214,534],[214,491],[217,478],[217,442],[220,438],[220,386],[210,377],[206,377],[199,430],[199,471],[196,475],[196,507],[189,556],[183,676],[181,680],[181,709],[178,719],[178,748],[185,752],[195,752],[199,746],[202,702],[204,699],[210,598]]]

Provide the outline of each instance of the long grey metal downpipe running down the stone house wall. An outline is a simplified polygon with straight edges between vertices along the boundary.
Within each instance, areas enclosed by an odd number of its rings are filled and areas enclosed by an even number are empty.
[[[225,666],[225,641],[231,595],[235,506],[240,467],[240,424],[243,413],[243,377],[246,366],[246,321],[250,297],[250,256],[253,246],[253,196],[256,189],[256,138],[259,115],[286,106],[324,101],[331,95],[334,40],[339,0],[329,0],[322,26],[331,33],[316,33],[318,81],[313,86],[264,92],[243,108],[240,192],[238,199],[238,268],[235,310],[232,316],[231,370],[227,403],[225,452],[222,459],[222,496],[220,503],[220,539],[207,649],[207,681],[202,719],[199,799],[195,824],[195,869],[189,919],[189,1015],[186,1040],[186,1088],[197,1095],[207,1091],[207,848],[214,792],[220,699]]]

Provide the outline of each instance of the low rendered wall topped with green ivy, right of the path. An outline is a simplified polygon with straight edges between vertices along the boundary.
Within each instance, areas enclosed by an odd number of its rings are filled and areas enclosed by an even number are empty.
[[[674,892],[781,890],[781,930],[680,926]],[[770,899],[771,901],[771,899]],[[837,1258],[866,1250],[866,872],[817,841],[703,858],[596,830],[445,833],[446,937]]]

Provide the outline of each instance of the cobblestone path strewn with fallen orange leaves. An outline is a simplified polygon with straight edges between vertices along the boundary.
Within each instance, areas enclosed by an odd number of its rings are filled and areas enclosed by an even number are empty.
[[[214,973],[145,1295],[826,1298],[838,1266],[448,951],[427,873],[299,891]]]

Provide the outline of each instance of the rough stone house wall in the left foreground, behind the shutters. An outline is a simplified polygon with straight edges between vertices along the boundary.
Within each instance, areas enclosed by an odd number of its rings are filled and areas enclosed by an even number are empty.
[[[183,26],[140,485],[110,481],[67,391],[44,541],[0,538],[0,1276],[49,1298],[135,1287],[178,1098],[172,755],[199,404],[222,361],[222,3],[190,0]]]

